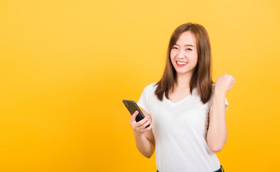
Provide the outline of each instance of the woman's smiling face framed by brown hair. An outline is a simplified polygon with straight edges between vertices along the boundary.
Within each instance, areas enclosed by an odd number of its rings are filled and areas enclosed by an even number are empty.
[[[177,73],[192,72],[197,63],[196,40],[190,31],[183,32],[171,48],[170,58]]]

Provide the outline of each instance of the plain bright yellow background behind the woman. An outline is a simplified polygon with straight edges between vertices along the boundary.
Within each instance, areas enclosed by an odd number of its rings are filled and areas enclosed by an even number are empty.
[[[278,0],[1,0],[0,172],[156,172],[122,100],[162,76],[179,25],[209,32],[226,172],[279,170]]]

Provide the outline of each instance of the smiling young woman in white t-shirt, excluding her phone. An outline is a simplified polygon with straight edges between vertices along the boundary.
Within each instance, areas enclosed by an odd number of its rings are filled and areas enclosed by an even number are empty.
[[[225,94],[235,79],[224,74],[214,84],[211,61],[206,29],[179,26],[161,80],[146,86],[137,102],[146,117],[136,122],[138,111],[131,116],[136,146],[147,158],[156,149],[157,172],[222,172],[214,152],[227,140]]]

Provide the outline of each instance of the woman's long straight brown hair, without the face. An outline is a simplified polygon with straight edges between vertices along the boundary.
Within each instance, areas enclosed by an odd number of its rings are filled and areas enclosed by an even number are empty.
[[[165,94],[165,97],[168,99],[169,90],[172,91],[174,89],[174,82],[176,81],[177,72],[171,62],[170,51],[179,36],[185,31],[190,31],[196,39],[198,58],[189,83],[190,93],[192,95],[192,90],[196,87],[197,94],[200,96],[201,102],[205,104],[211,97],[213,84],[210,39],[206,29],[203,26],[199,24],[192,24],[190,22],[177,27],[173,31],[167,49],[164,73],[160,81],[156,83],[158,86],[156,87],[154,94],[160,101],[162,101],[163,94]]]

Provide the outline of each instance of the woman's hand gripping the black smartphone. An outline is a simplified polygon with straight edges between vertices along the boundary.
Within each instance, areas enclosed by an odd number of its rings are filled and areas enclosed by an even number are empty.
[[[135,111],[134,114],[131,115],[130,125],[131,125],[131,127],[133,129],[134,134],[142,135],[146,131],[152,129],[153,122],[151,122],[150,116],[145,116],[145,118],[143,118],[140,121],[136,122],[135,118],[138,115],[138,113],[139,113],[138,111]],[[150,126],[145,128],[149,124],[150,124]]]

